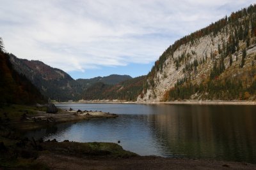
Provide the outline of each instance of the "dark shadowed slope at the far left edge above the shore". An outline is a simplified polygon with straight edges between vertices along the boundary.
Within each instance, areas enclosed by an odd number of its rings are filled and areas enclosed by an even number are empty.
[[[45,103],[44,96],[26,76],[13,69],[9,55],[2,49],[0,46],[0,105]]]

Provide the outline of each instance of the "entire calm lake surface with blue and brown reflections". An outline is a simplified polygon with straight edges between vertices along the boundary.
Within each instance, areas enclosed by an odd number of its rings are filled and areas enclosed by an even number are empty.
[[[117,143],[140,155],[256,163],[256,106],[188,104],[56,104],[116,113],[28,132],[35,138]]]

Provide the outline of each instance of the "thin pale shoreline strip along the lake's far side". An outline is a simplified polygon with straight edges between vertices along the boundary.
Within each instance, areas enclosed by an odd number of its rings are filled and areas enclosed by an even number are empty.
[[[199,105],[256,105],[256,101],[83,101],[54,104],[199,104]]]

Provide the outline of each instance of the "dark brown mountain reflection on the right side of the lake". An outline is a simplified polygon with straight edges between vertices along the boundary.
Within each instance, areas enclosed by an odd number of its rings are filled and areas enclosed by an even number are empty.
[[[149,118],[170,153],[255,163],[253,111],[255,106],[167,105]]]

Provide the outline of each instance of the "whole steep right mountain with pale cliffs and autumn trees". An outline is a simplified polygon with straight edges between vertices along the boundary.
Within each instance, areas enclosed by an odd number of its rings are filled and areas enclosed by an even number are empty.
[[[138,101],[256,99],[256,5],[181,38],[159,57]]]

